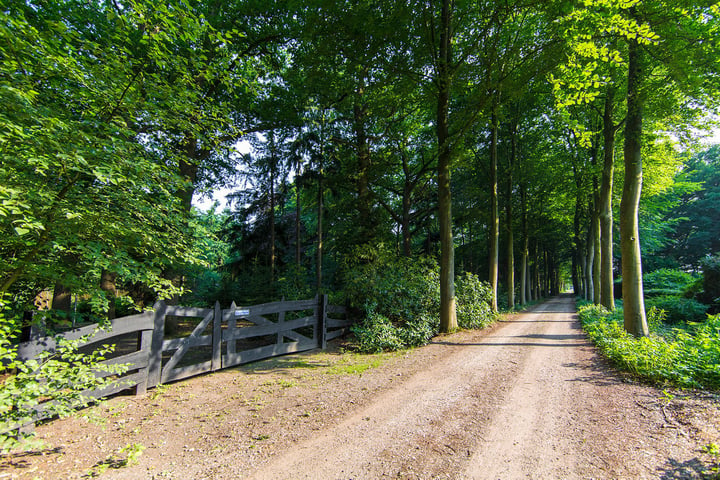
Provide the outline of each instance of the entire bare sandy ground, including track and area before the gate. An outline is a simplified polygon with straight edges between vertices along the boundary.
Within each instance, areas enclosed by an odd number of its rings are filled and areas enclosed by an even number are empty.
[[[38,428],[0,478],[713,478],[720,397],[617,374],[570,297],[400,354],[286,356]],[[141,452],[141,454],[139,453]]]

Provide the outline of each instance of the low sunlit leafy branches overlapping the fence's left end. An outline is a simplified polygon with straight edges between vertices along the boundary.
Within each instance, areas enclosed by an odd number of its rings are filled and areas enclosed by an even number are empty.
[[[15,429],[32,423],[38,409],[45,417],[67,416],[93,401],[84,391],[104,388],[114,381],[113,374],[127,371],[127,365],[101,363],[114,346],[103,345],[93,353],[80,353],[79,345],[91,336],[73,341],[58,337],[54,353],[44,352],[35,359],[20,361],[14,345],[20,324],[20,320],[7,315],[0,304],[2,452],[37,446],[31,441],[32,434],[18,433]]]

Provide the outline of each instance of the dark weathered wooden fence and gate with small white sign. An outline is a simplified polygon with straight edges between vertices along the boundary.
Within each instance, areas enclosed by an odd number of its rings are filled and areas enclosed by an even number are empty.
[[[172,325],[190,325],[189,335]],[[89,325],[60,334],[68,340],[93,334],[80,349],[116,344],[107,364],[128,364],[128,371],[109,387],[86,392],[100,398],[122,390],[145,393],[161,383],[233,367],[287,353],[326,348],[352,322],[344,307],[328,305],[327,296],[221,309],[155,304],[152,311],[113,320],[109,328]],[[189,328],[188,328],[189,330]],[[186,333],[186,332],[185,332]],[[54,351],[57,336],[34,338],[18,345],[18,358],[29,360]]]

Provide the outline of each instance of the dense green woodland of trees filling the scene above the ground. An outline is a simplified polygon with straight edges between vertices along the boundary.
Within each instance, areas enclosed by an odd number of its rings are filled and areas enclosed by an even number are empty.
[[[717,310],[720,149],[699,143],[720,99],[717,4],[11,0],[0,15],[13,312],[41,292],[76,319],[322,291],[382,328],[423,317],[403,338],[425,338],[472,319],[463,298],[497,311],[572,288],[610,310],[622,297],[626,330],[647,335],[643,274],[668,308]],[[227,208],[193,207],[221,188]]]

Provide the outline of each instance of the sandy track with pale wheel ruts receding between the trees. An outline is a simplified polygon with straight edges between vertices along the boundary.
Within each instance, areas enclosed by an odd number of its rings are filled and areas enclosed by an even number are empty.
[[[694,478],[675,456],[694,448],[682,425],[656,390],[608,373],[571,297],[443,338],[432,368],[251,478]]]

